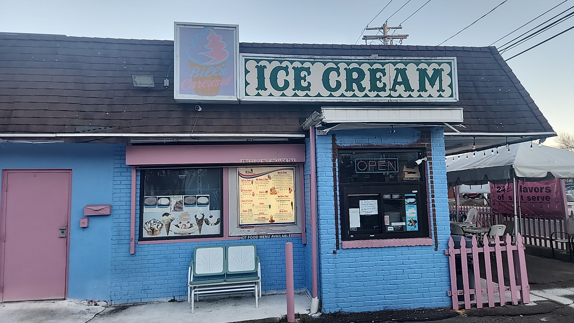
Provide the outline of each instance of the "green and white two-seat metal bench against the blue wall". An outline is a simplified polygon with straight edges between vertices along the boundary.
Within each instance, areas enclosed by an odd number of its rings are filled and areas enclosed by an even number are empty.
[[[254,244],[215,245],[193,249],[189,263],[187,301],[194,312],[199,295],[251,293],[255,307],[261,297],[261,263]]]

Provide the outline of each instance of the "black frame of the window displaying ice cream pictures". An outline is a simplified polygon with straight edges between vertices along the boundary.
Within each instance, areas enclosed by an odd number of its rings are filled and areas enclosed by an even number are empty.
[[[181,235],[181,236],[166,236],[166,237],[144,237],[144,197],[145,195],[145,184],[146,184],[146,178],[145,178],[145,171],[146,170],[182,170],[182,169],[204,169],[204,168],[219,168],[220,170],[220,176],[219,176],[219,194],[220,194],[220,205],[219,205],[219,210],[220,210],[220,233],[218,234],[200,234],[200,235]],[[153,166],[153,167],[141,167],[138,168],[139,170],[139,228],[138,228],[138,232],[139,232],[139,236],[138,236],[138,241],[162,241],[162,240],[185,240],[185,239],[210,239],[210,238],[223,238],[225,237],[224,233],[226,230],[226,226],[227,224],[224,223],[226,221],[224,221],[224,210],[223,210],[223,206],[224,206],[224,199],[228,198],[227,196],[227,190],[226,188],[223,187],[223,176],[224,176],[224,172],[223,172],[223,168],[222,166],[201,166],[201,165],[193,165],[193,166],[188,166],[188,165],[181,165],[181,166],[177,166],[177,167],[173,167],[173,166],[168,166],[168,167],[158,167],[158,166]]]

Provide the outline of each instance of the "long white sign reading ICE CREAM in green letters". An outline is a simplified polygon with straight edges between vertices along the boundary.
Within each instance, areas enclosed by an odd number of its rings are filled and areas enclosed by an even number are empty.
[[[241,55],[242,100],[457,101],[455,57]]]

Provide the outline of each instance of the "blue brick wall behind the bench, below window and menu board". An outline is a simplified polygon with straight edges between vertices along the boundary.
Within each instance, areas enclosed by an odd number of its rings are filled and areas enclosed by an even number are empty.
[[[137,201],[139,201],[139,171]],[[113,172],[113,237],[111,256],[111,303],[139,303],[187,299],[187,272],[193,248],[200,245],[255,243],[261,258],[263,294],[285,293],[285,243],[293,243],[294,287],[306,289],[307,263],[301,237],[197,241],[192,243],[145,244],[130,255],[131,167],[125,163],[125,147],[115,147]],[[136,226],[139,225],[137,207]],[[138,229],[136,229],[136,241]]]

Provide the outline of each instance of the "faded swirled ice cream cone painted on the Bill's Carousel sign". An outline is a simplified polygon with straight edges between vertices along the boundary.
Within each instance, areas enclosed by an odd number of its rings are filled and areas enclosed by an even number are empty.
[[[204,32],[196,34],[187,48],[191,79],[195,82],[193,89],[197,94],[218,95],[223,83],[230,81],[223,79],[229,52],[222,39],[214,29],[206,27]]]

